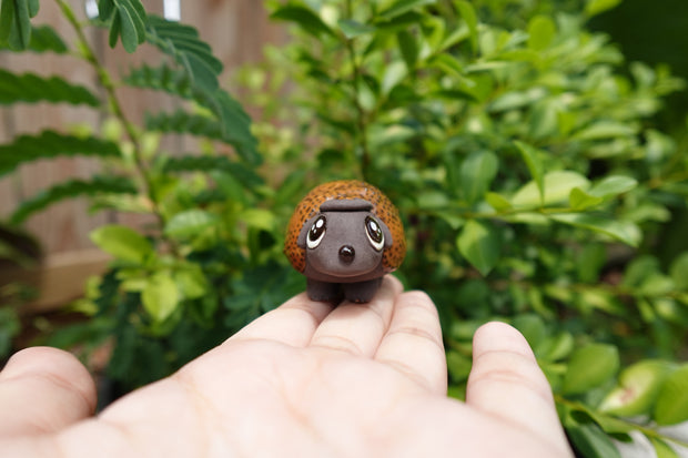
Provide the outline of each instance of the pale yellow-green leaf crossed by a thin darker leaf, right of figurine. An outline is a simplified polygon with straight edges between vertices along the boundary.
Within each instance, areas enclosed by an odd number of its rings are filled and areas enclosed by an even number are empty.
[[[574,187],[587,190],[589,185],[588,179],[577,172],[549,172],[543,177],[544,199],[540,199],[540,191],[535,181],[530,181],[514,194],[512,204],[523,207],[560,204],[569,199]]]

